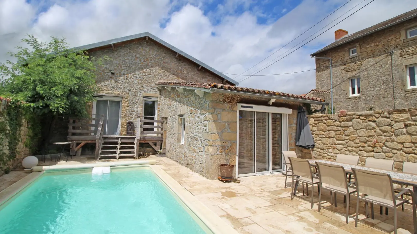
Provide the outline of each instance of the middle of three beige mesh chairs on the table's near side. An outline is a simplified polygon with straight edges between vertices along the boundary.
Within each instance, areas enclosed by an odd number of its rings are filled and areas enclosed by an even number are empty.
[[[349,219],[349,198],[350,194],[355,193],[356,189],[349,187],[350,184],[347,183],[346,171],[343,166],[333,165],[323,162],[316,162],[317,170],[319,171],[319,212],[321,209],[321,199],[323,190],[329,190],[330,194],[339,193],[346,196],[346,223]],[[327,184],[323,187],[322,184]],[[333,197],[333,196],[331,196]],[[333,203],[333,202],[332,202]]]

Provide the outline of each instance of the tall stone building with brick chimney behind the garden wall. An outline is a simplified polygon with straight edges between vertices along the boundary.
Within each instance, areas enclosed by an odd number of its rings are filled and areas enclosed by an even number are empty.
[[[336,112],[417,106],[417,9],[353,34],[339,29],[335,42],[311,56],[316,58],[316,89],[323,91],[331,90],[332,59]],[[327,93],[314,96],[331,102]]]

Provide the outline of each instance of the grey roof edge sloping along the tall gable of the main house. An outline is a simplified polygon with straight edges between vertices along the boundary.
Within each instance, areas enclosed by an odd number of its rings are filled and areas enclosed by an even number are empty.
[[[232,78],[224,75],[223,73],[219,72],[218,70],[214,69],[213,67],[208,66],[207,64],[201,62],[200,60],[198,60],[194,57],[192,57],[191,55],[188,55],[186,52],[183,52],[182,50],[178,49],[177,47],[170,45],[169,43],[165,42],[164,40],[161,40],[159,37],[156,37],[155,35],[153,35],[149,32],[142,32],[142,33],[138,33],[138,34],[135,34],[135,35],[126,36],[126,37],[119,37],[119,38],[106,40],[106,41],[102,41],[102,42],[96,42],[96,43],[89,44],[89,45],[82,45],[82,46],[79,46],[79,47],[75,47],[74,49],[90,50],[90,49],[93,49],[93,48],[102,47],[102,46],[111,45],[111,44],[116,44],[116,43],[124,42],[124,41],[128,41],[128,40],[134,40],[134,39],[138,39],[138,38],[142,38],[142,37],[150,37],[152,40],[162,44],[165,47],[168,47],[169,49],[177,52],[178,54],[182,55],[183,57],[186,57],[187,59],[195,62],[196,64],[201,65],[201,67],[204,67],[207,70],[209,70],[210,72],[213,72],[214,74],[222,77],[224,80],[229,81],[232,85],[239,85],[239,82],[237,82],[236,80],[233,80]]]

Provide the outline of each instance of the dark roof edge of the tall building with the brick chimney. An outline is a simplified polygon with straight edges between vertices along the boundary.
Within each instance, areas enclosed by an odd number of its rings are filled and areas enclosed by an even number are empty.
[[[365,28],[363,30],[360,30],[360,31],[355,32],[355,33],[352,33],[351,35],[347,35],[345,37],[342,37],[341,39],[333,42],[332,44],[324,47],[321,50],[318,50],[318,51],[314,52],[311,55],[312,56],[317,55],[320,52],[324,52],[324,51],[329,50],[329,49],[331,49],[333,47],[337,47],[339,45],[343,45],[346,42],[355,40],[355,39],[360,38],[360,37],[364,37],[364,36],[366,36],[368,34],[371,34],[373,32],[377,32],[379,30],[382,30],[382,29],[384,29],[386,27],[389,27],[389,26],[392,26],[392,25],[396,25],[396,24],[398,24],[400,22],[403,22],[404,20],[409,20],[409,19],[412,19],[414,17],[417,17],[417,8],[414,9],[414,10],[410,10],[409,12],[405,12],[404,14],[397,15],[396,17],[393,17],[393,18],[391,18],[389,20],[385,20],[383,22],[380,22],[380,23],[378,23],[376,25],[373,25],[371,27],[367,27],[367,28]]]

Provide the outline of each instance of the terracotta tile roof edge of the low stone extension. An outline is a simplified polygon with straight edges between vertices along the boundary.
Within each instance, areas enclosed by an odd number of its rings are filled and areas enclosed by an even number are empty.
[[[214,82],[211,83],[195,83],[195,82],[170,82],[170,81],[160,81],[157,83],[158,85],[176,85],[176,86],[183,86],[183,87],[198,87],[198,88],[204,88],[204,89],[222,89],[222,90],[234,90],[238,92],[249,92],[249,93],[255,93],[255,94],[267,94],[267,95],[276,95],[281,97],[292,97],[292,98],[298,98],[303,100],[312,100],[312,101],[318,101],[318,102],[325,102],[324,99],[318,98],[318,97],[307,97],[303,95],[294,95],[290,93],[285,92],[276,92],[271,90],[260,90],[260,89],[253,89],[253,88],[245,88],[240,87],[236,85],[223,85],[223,84],[217,84]]]

